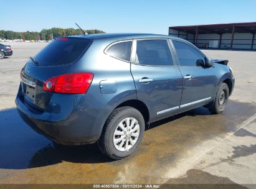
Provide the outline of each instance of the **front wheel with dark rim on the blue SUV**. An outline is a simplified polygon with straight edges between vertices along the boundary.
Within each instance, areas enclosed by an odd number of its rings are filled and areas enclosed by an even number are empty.
[[[214,99],[214,104],[212,108],[209,108],[209,110],[214,114],[220,114],[225,109],[225,105],[227,104],[227,101],[229,99],[229,86],[227,86],[226,83],[221,83],[217,93],[216,97]]]

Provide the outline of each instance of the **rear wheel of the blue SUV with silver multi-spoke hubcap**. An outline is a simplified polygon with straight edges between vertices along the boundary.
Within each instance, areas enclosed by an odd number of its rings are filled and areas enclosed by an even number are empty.
[[[127,122],[130,127],[127,127]],[[140,111],[130,106],[117,108],[105,122],[98,147],[111,159],[123,159],[135,152],[144,131],[145,120]]]

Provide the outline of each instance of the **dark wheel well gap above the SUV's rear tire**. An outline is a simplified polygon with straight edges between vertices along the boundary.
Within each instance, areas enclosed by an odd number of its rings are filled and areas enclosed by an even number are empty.
[[[120,108],[120,107],[123,107],[123,106],[130,106],[130,107],[138,109],[138,111],[140,111],[140,113],[143,115],[143,118],[145,120],[145,124],[147,124],[149,122],[149,111],[148,111],[148,107],[146,106],[145,103],[141,102],[138,99],[131,99],[131,100],[128,100],[128,101],[125,101],[125,102],[121,103],[116,108]]]

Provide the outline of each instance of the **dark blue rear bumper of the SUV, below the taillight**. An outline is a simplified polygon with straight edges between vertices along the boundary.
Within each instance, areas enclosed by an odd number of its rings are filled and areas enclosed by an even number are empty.
[[[50,113],[47,110],[42,113],[29,106],[19,94],[16,98],[16,106],[21,118],[34,131],[63,145],[82,145],[96,142],[110,113],[108,109],[80,108],[74,108],[63,115]],[[49,106],[51,106],[50,103]],[[66,111],[69,110],[66,109]]]

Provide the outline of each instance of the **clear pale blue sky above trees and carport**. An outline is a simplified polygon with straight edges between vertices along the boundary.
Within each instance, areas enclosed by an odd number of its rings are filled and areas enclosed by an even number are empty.
[[[168,34],[169,26],[256,22],[255,0],[0,0],[0,30],[51,27]]]

